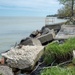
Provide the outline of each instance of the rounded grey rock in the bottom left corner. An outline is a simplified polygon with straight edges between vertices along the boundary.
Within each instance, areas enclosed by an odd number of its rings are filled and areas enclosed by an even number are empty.
[[[8,66],[0,66],[0,75],[14,75]]]

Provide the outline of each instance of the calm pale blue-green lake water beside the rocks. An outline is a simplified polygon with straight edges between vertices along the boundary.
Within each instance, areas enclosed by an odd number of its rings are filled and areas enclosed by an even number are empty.
[[[50,18],[58,23],[65,20]],[[45,25],[44,17],[0,17],[0,53],[19,43],[32,31],[40,30]]]

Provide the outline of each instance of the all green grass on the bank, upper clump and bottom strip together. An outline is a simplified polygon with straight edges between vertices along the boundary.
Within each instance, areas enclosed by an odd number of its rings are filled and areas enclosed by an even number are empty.
[[[67,61],[72,59],[73,50],[75,50],[75,38],[69,38],[63,44],[52,42],[45,47],[44,61],[47,65],[51,64],[54,60],[57,60],[56,63]],[[52,66],[43,69],[40,75],[75,75],[75,67],[72,67],[72,65],[66,67],[64,65],[62,68],[59,66]]]

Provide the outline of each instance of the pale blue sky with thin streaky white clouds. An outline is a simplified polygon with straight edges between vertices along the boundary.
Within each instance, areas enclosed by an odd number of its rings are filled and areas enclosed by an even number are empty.
[[[0,16],[46,16],[60,7],[58,0],[0,0]]]

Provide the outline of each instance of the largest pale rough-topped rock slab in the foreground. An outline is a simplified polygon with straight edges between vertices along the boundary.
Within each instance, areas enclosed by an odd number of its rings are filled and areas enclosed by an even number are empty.
[[[43,54],[43,48],[43,46],[15,47],[2,56],[7,58],[7,63],[12,68],[31,70]]]

